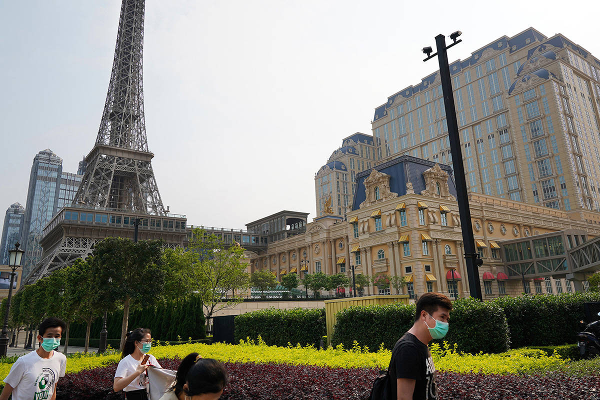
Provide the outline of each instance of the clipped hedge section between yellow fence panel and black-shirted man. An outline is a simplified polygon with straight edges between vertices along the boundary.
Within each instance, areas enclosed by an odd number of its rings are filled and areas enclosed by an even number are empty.
[[[376,351],[391,349],[395,342],[410,329],[415,318],[415,306],[400,303],[354,306],[341,310],[336,316],[331,344],[352,348],[357,341]]]

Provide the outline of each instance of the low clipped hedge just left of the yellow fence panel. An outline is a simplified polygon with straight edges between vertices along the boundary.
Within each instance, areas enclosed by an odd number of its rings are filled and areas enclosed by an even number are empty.
[[[275,309],[248,312],[235,317],[235,341],[258,336],[268,345],[312,344],[319,347],[325,335],[325,309]]]

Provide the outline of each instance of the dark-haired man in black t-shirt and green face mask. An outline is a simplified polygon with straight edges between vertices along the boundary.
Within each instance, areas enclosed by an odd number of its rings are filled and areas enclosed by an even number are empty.
[[[415,323],[396,342],[389,363],[389,400],[436,400],[436,368],[427,345],[448,332],[452,302],[425,293],[416,303]]]

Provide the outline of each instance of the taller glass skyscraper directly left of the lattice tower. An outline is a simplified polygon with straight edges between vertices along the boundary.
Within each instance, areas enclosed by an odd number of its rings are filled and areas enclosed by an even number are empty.
[[[21,234],[24,277],[40,261],[44,226],[59,209],[71,204],[80,182],[80,175],[62,172],[62,158],[52,150],[46,149],[34,157]]]

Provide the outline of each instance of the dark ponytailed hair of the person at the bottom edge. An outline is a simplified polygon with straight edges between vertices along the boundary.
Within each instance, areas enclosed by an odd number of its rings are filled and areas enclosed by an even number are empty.
[[[188,389],[184,390],[184,384]],[[198,353],[188,354],[179,365],[173,389],[175,395],[182,391],[188,396],[218,393],[229,383],[229,374],[222,363],[200,358]]]

